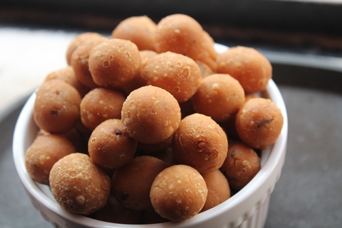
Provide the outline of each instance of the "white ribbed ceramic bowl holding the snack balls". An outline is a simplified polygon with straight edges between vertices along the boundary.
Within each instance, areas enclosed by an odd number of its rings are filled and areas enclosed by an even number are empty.
[[[227,49],[223,45],[215,45],[216,51],[222,53]],[[25,168],[25,151],[33,142],[38,127],[32,116],[36,94],[33,93],[25,103],[18,117],[14,129],[13,156],[17,173],[23,186],[42,217],[54,227],[92,227],[92,228],[226,228],[246,227],[261,228],[267,218],[269,197],[278,181],[282,166],[285,161],[287,146],[287,112],[278,87],[271,79],[267,84],[263,97],[269,97],[281,110],[284,117],[284,125],[278,140],[261,153],[261,170],[239,192],[220,205],[185,220],[180,223],[159,223],[150,225],[123,225],[106,223],[86,216],[72,214],[63,210],[53,199],[49,186],[36,183],[31,179]]]

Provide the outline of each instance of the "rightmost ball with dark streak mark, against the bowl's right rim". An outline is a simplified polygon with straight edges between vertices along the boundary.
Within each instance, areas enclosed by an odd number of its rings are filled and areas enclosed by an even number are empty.
[[[280,109],[269,99],[249,99],[235,119],[239,138],[254,149],[266,149],[276,142],[283,125]]]

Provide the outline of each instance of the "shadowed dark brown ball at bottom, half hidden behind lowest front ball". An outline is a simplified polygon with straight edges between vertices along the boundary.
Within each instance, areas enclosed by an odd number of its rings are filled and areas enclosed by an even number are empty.
[[[132,210],[146,210],[151,207],[150,188],[153,180],[167,165],[157,157],[134,157],[118,168],[111,179],[114,197]]]

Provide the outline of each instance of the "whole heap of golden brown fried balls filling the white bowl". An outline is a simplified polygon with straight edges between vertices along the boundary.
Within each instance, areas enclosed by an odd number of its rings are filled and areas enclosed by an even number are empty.
[[[261,168],[282,114],[261,97],[269,61],[216,53],[192,17],[133,16],[87,32],[36,91],[25,162],[68,212],[111,223],[181,221],[226,201]],[[229,142],[229,143],[228,143]]]

